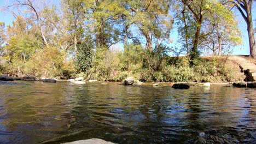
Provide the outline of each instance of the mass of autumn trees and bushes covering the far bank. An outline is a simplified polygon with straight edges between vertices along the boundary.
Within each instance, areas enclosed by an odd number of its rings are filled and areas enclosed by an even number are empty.
[[[241,44],[231,4],[194,0],[14,1],[12,25],[0,23],[1,57],[10,75],[121,81],[211,81],[222,74],[212,60],[196,59]],[[171,7],[173,6],[173,7]],[[171,29],[178,26],[185,58],[170,58]],[[122,45],[123,44],[123,45]],[[214,45],[214,46],[213,46]],[[176,46],[177,47],[177,46]],[[194,65],[189,65],[191,59]],[[211,67],[210,67],[211,66]],[[201,70],[201,71],[200,71]],[[203,77],[202,77],[203,76]]]

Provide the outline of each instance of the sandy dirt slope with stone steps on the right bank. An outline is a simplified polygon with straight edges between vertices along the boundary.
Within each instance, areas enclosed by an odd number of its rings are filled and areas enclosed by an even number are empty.
[[[256,59],[245,56],[229,56],[228,59],[240,66],[241,70],[248,76],[248,81],[256,81]]]

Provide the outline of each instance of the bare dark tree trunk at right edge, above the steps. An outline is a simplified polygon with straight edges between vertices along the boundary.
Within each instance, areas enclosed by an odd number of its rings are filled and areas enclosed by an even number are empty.
[[[256,41],[254,38],[253,20],[252,20],[252,5],[255,0],[234,0],[231,1],[241,13],[246,21],[247,32],[249,37],[250,56],[256,58]],[[230,2],[230,1],[228,1]]]

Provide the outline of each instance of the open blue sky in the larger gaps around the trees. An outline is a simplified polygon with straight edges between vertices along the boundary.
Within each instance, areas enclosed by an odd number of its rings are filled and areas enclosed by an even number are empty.
[[[7,6],[9,3],[11,2],[11,0],[0,0],[0,8],[2,9],[2,7]],[[53,2],[57,2],[54,1]],[[232,53],[233,55],[249,55],[249,40],[248,40],[248,33],[247,33],[247,26],[246,26],[246,22],[243,20],[241,14],[238,12],[238,10],[236,8],[235,9],[235,13],[238,17],[238,21],[240,22],[240,29],[242,31],[242,39],[243,39],[243,45],[242,46],[237,46],[234,49],[234,52]],[[253,15],[253,26],[256,27],[256,2],[253,3],[253,10],[252,10],[252,15]],[[14,20],[14,17],[11,13],[8,13],[7,11],[0,11],[0,21],[5,22],[5,25],[9,25],[11,24],[11,22]],[[255,35],[255,34],[254,34]],[[171,34],[171,39],[173,40],[173,43],[171,44],[171,46],[176,45],[177,43],[175,43],[178,40],[178,34],[176,29],[173,29],[173,32]]]

